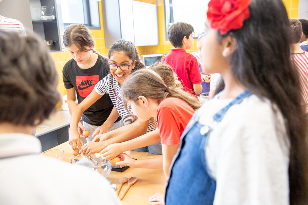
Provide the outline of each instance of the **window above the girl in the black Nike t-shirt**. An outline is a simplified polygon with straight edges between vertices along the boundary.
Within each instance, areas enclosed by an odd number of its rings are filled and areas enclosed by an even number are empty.
[[[90,29],[100,29],[97,0],[61,0],[64,26],[82,23]]]

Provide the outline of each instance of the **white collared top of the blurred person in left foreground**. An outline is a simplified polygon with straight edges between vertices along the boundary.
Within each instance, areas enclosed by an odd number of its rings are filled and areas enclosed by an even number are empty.
[[[41,151],[41,143],[34,136],[0,134],[0,157],[38,153],[0,159],[0,204],[121,204],[107,180],[96,171],[47,159]]]

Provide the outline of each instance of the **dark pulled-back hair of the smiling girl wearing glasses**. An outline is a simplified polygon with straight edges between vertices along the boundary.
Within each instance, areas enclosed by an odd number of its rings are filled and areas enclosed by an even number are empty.
[[[136,61],[135,68],[132,69],[132,73],[136,70],[145,68],[145,65],[141,62],[139,57],[139,52],[136,49],[136,46],[131,41],[126,41],[123,39],[115,41],[109,48],[108,58],[110,58],[114,52],[124,52],[132,61]],[[113,93],[119,97],[113,88],[113,76],[110,75],[111,87],[113,89]]]

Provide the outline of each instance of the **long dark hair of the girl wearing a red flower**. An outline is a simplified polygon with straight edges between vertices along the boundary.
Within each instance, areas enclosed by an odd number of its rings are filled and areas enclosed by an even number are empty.
[[[252,0],[250,18],[231,30],[237,50],[230,56],[233,76],[259,98],[276,104],[290,140],[290,204],[307,204],[307,119],[300,104],[297,72],[290,63],[290,28],[281,0]],[[273,105],[274,108],[274,105]]]

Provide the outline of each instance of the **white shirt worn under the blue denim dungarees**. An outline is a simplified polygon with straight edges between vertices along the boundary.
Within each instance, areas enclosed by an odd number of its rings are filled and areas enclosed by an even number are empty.
[[[214,205],[288,205],[290,143],[281,112],[251,95],[214,122],[232,100],[216,96],[198,111],[199,122],[213,127],[205,156],[217,181]]]

